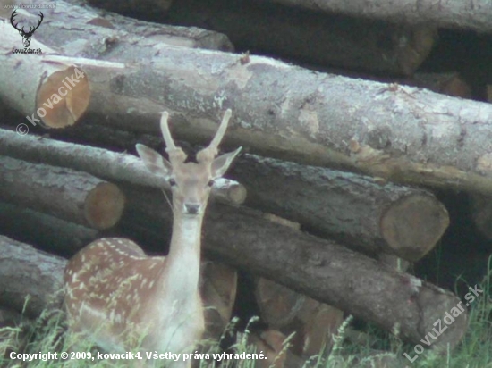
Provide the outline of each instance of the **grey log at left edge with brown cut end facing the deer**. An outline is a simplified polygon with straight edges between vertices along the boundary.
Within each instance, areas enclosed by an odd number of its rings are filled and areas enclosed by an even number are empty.
[[[0,198],[95,229],[108,229],[123,213],[115,184],[85,172],[0,156]]]

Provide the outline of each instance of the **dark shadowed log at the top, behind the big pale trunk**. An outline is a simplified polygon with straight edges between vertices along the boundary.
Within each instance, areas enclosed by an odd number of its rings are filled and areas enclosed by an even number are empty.
[[[146,19],[160,21],[153,13]],[[437,36],[431,23],[411,29],[247,0],[182,0],[165,22],[224,32],[235,46],[255,53],[386,75],[411,75]]]

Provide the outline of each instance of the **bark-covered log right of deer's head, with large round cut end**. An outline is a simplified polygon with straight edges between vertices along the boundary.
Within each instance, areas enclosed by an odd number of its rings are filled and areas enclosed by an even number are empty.
[[[246,205],[369,255],[418,261],[449,225],[445,206],[432,194],[385,180],[258,155],[243,155],[229,174],[247,188]]]

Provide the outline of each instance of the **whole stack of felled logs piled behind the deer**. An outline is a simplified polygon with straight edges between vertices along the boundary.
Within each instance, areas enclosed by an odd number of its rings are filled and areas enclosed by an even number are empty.
[[[270,330],[251,339],[272,353],[270,363],[295,332],[277,366],[296,366],[293,355],[306,358],[330,347],[344,313],[388,331],[397,325],[403,339],[419,342],[458,304],[454,294],[405,273],[449,225],[432,192],[408,185],[478,193],[477,223],[485,232],[491,217],[483,196],[492,195],[492,105],[394,82],[470,96],[455,73],[409,79],[432,49],[436,29],[344,23],[322,13],[300,12],[293,21],[292,9],[282,5],[259,22],[258,13],[271,5],[248,4],[240,14],[219,0],[209,7],[159,3],[168,21],[214,20],[209,26],[224,29],[234,43],[247,42],[242,25],[254,21],[249,38],[259,43],[266,38],[255,32],[274,29],[272,53],[352,70],[345,75],[400,76],[386,83],[233,54],[221,33],[136,21],[79,3],[58,1],[55,12],[45,12],[49,21],[30,45],[43,54],[9,54],[21,38],[10,13],[0,21],[4,310],[21,311],[30,295],[25,312],[37,317],[61,288],[62,256],[93,239],[130,237],[165,252],[173,217],[161,192],[166,184],[132,155],[134,146],[162,150],[157,121],[164,109],[183,145],[204,144],[228,107],[233,119],[223,146],[246,146],[247,153],[230,170],[231,180],[216,183],[216,203],[205,220],[209,260],[202,263],[201,288],[208,338],[219,339],[231,318],[236,268],[255,275],[255,297]],[[302,26],[307,17],[313,28]],[[287,20],[293,27],[283,33]],[[459,27],[447,21],[444,26]],[[480,24],[492,29],[487,21],[462,27]],[[310,45],[313,34],[326,48]],[[65,96],[62,86],[69,89]],[[456,318],[432,347],[458,344],[466,320],[466,314]]]

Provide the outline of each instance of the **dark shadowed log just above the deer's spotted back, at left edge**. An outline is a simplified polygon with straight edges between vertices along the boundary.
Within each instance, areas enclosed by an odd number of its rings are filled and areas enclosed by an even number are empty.
[[[101,238],[98,230],[6,203],[0,203],[0,233],[66,257]]]

